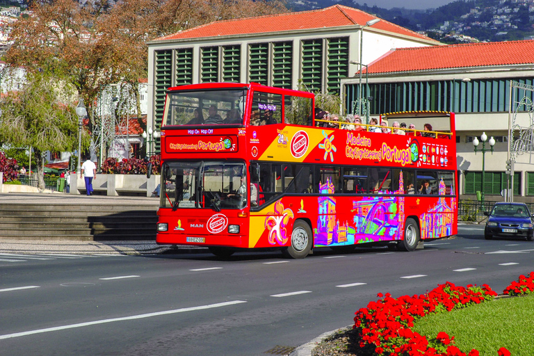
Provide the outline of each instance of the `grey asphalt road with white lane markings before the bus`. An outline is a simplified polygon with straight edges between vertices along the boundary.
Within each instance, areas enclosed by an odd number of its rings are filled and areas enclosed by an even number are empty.
[[[76,256],[0,254],[0,355],[284,355],[351,325],[379,292],[446,281],[501,293],[534,270],[534,243],[482,227],[423,250]]]

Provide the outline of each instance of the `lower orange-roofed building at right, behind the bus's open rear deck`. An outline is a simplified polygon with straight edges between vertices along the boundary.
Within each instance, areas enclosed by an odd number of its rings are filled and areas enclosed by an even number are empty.
[[[391,49],[369,63],[369,72],[364,68],[363,88],[368,78],[369,89],[362,90],[362,95],[371,99],[371,117],[396,111],[455,112],[459,191],[463,197],[476,200],[475,193],[482,188],[482,156],[475,154],[473,140],[480,140],[483,132],[493,137],[494,152],[485,144],[485,200],[502,200],[507,182],[509,121],[516,138],[521,129],[531,135],[532,129],[526,128],[534,125],[533,53],[534,40]],[[521,88],[512,86],[510,90],[511,82]],[[359,85],[357,71],[341,80],[348,113],[356,110]],[[514,143],[510,136],[510,140],[517,147],[522,142],[527,150],[534,148],[525,139]],[[534,202],[531,154],[518,154],[516,160],[515,200]]]

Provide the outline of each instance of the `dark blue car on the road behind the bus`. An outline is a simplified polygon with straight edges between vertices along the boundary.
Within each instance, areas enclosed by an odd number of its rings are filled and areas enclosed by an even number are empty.
[[[533,216],[524,203],[498,202],[491,213],[484,211],[487,223],[484,229],[486,240],[494,236],[518,236],[534,241]]]

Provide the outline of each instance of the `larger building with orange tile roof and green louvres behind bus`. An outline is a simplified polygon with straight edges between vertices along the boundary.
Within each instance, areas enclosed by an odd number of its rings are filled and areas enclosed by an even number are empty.
[[[205,82],[257,82],[339,92],[342,78],[392,47],[440,43],[355,8],[211,22],[148,42],[149,124],[159,127],[165,90]]]

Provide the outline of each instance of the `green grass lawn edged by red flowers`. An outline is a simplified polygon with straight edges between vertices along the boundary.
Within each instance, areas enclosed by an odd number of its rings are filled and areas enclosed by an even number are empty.
[[[534,295],[498,298],[452,312],[428,315],[413,330],[427,337],[446,332],[464,353],[496,356],[501,347],[514,356],[534,355]]]

